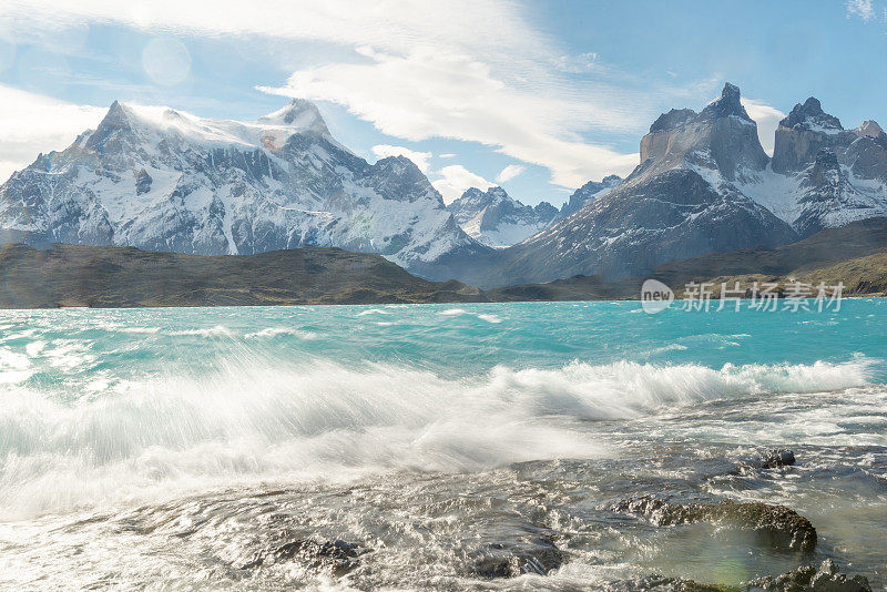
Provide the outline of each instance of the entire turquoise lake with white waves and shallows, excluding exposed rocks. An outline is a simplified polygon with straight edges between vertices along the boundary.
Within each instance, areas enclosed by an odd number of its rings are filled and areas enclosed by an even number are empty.
[[[833,559],[885,589],[886,319],[879,298],[0,312],[0,588],[736,584]],[[777,448],[797,463],[755,466]],[[818,544],[615,509],[643,496],[785,504]],[[306,538],[360,551],[251,560]],[[547,576],[478,571],[540,544]]]

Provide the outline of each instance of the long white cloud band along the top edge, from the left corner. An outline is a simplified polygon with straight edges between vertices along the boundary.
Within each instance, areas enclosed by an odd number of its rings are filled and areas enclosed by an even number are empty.
[[[550,51],[520,7],[506,0],[3,0],[0,19],[13,32],[59,31],[93,21],[163,33],[258,34],[385,51],[471,47],[497,60],[513,51],[536,57]]]

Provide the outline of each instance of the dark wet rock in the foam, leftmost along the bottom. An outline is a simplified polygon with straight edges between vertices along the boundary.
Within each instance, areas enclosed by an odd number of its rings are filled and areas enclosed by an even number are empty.
[[[318,573],[341,576],[359,565],[358,557],[366,552],[357,543],[340,540],[318,541],[297,539],[284,543],[272,551],[258,553],[255,559],[241,569],[257,568],[266,563],[298,561],[307,569]]]

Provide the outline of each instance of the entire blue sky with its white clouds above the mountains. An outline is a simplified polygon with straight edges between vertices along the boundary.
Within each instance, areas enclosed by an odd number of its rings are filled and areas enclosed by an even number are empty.
[[[115,99],[253,120],[318,103],[370,162],[409,155],[451,200],[501,184],[560,205],[625,174],[656,115],[742,89],[765,147],[809,95],[887,123],[887,0],[4,0],[0,175]]]

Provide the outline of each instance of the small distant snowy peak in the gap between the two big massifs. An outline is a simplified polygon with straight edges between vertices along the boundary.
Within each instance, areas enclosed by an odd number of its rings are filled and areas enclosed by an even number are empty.
[[[447,206],[469,236],[485,245],[507,247],[534,235],[558,216],[548,202],[536,207],[512,198],[502,187],[471,187]]]

